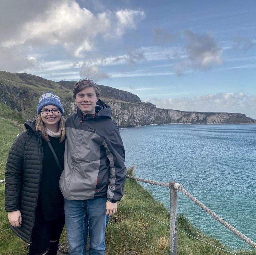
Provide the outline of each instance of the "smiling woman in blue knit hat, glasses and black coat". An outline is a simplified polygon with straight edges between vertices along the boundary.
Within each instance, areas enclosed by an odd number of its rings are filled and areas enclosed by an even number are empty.
[[[37,118],[13,143],[5,172],[5,210],[29,255],[56,255],[65,223],[59,179],[64,168],[64,109],[59,97],[39,98]],[[55,154],[55,155],[54,155]]]

